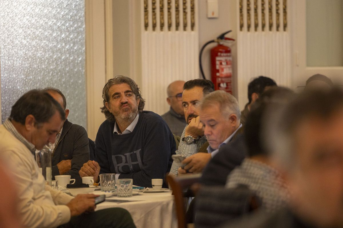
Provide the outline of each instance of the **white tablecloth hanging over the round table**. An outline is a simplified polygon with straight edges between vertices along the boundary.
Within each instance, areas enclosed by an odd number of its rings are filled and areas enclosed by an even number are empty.
[[[94,194],[99,194],[95,191]],[[174,205],[174,196],[167,190],[161,193],[140,193],[138,196],[106,199],[130,200],[134,202],[102,202],[96,205],[96,210],[109,207],[122,207],[128,210],[137,228],[176,228],[177,218]],[[139,200],[139,201],[135,201]]]

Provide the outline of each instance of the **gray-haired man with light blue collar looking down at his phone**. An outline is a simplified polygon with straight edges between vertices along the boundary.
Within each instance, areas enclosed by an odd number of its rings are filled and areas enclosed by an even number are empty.
[[[183,160],[182,163],[187,165],[184,169],[179,168],[179,174],[187,171],[201,172],[221,146],[231,142],[243,131],[237,99],[224,91],[214,91],[201,100],[199,117],[209,143],[208,153],[197,153]]]

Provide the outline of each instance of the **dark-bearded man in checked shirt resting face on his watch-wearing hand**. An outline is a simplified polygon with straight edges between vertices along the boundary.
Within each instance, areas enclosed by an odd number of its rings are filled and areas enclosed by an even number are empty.
[[[209,144],[206,136],[204,136],[204,130],[202,129],[202,123],[199,117],[199,102],[205,95],[213,91],[214,84],[210,80],[193,79],[184,84],[184,92],[182,93],[182,106],[184,106],[186,122],[188,124],[184,132],[182,132],[176,154],[188,158],[198,152],[204,152],[199,153],[198,157],[200,162],[197,162],[199,166],[202,166],[204,160],[206,160],[205,164],[208,162],[208,159],[204,159],[203,157],[207,158],[209,155],[206,150]],[[179,168],[180,166],[174,161],[169,174],[177,176],[181,169]],[[193,172],[193,170],[189,172]]]

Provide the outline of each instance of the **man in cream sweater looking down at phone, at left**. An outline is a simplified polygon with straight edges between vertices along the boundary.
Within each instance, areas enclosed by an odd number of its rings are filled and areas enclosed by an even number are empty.
[[[55,142],[65,119],[54,98],[31,90],[17,100],[9,119],[0,126],[0,153],[12,165],[21,222],[25,227],[47,228],[135,227],[126,210],[94,212],[94,198],[98,195],[80,194],[73,198],[45,184],[34,153]]]

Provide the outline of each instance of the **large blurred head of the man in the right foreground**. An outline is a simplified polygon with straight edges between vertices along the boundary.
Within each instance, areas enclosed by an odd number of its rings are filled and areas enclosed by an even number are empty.
[[[343,91],[306,90],[272,110],[264,142],[284,172],[291,209],[312,225],[343,227]]]

